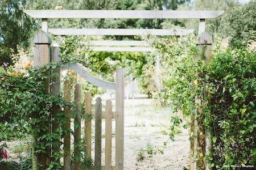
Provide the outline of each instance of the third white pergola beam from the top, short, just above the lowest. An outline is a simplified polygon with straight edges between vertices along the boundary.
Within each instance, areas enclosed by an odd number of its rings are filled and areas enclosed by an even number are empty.
[[[147,41],[89,41],[85,44],[93,46],[149,46]]]

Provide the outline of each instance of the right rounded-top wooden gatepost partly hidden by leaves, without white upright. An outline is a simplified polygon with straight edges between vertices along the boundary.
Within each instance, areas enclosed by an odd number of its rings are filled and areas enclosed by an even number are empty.
[[[206,31],[200,33],[199,38],[197,39],[197,45],[199,46],[200,59],[208,63],[210,61],[210,55],[212,54],[212,36]],[[197,130],[196,133],[197,149],[200,150],[197,154],[199,158],[197,161],[197,168],[199,169],[210,169],[210,166],[203,155],[209,155],[212,148],[210,131],[206,130],[203,125],[205,116],[208,116],[207,113],[203,113],[204,107],[207,105],[207,99],[205,99],[206,95],[207,94],[203,94],[203,96],[196,101],[200,107],[196,115],[199,126],[199,130]]]

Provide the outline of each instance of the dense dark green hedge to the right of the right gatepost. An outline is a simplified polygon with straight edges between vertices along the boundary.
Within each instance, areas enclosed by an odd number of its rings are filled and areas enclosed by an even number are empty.
[[[255,166],[256,54],[245,48],[215,53],[200,75],[209,94],[204,124],[213,130],[212,162]]]

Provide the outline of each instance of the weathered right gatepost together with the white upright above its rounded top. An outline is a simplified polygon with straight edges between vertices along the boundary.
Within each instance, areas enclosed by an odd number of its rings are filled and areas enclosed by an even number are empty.
[[[205,29],[205,20],[200,19],[199,23],[199,38],[197,39],[197,45],[199,46],[199,59],[203,59],[205,62],[210,61],[210,55],[212,53],[212,36],[209,35]],[[211,169],[207,160],[201,156],[201,154],[209,154],[211,151],[212,143],[210,142],[211,135],[209,131],[205,131],[203,126],[204,117],[200,116],[203,113],[203,107],[207,104],[207,101],[202,100],[204,96],[196,96],[195,116],[191,117],[191,133],[194,133],[195,138],[191,139],[191,150],[190,150],[190,169]],[[199,130],[196,130],[198,127]],[[207,138],[207,139],[205,139]],[[195,158],[199,158],[195,161]]]

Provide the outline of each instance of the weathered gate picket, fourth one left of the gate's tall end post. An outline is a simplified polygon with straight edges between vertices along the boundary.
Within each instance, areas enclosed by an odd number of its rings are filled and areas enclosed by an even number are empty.
[[[74,138],[74,168],[81,169],[81,86],[75,85],[74,101],[76,104],[76,116],[74,121],[75,138]]]

